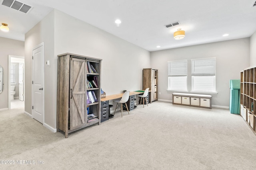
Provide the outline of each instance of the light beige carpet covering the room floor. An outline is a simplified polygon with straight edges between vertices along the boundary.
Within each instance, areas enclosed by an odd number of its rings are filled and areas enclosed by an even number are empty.
[[[256,135],[228,109],[152,102],[130,115],[124,111],[121,117],[117,112],[114,118],[70,133],[67,139],[23,112],[0,112],[0,160],[15,161],[0,164],[1,169],[256,169]]]

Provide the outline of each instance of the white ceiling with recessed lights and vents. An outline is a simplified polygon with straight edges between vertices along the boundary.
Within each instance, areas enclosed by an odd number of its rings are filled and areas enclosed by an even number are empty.
[[[256,31],[256,0],[18,0],[33,7],[28,14],[2,1],[0,23],[10,31],[0,31],[0,37],[21,41],[53,8],[148,51],[250,37]],[[116,19],[122,21],[119,27]],[[164,26],[176,21],[180,25]],[[186,37],[174,40],[178,28]],[[222,37],[225,33],[229,36]]]

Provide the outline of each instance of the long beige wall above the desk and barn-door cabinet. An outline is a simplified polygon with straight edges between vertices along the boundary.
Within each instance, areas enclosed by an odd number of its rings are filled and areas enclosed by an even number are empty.
[[[142,69],[150,67],[150,52],[56,10],[55,57],[67,52],[102,59],[108,95],[142,88]]]

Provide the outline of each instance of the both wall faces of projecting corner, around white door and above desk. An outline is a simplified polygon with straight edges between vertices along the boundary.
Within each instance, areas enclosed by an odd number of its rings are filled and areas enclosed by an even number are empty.
[[[70,30],[72,25],[74,30]],[[98,29],[88,23],[53,10],[25,35],[26,99],[31,114],[32,49],[44,42],[45,123],[56,128],[57,55],[74,53],[102,59],[102,90],[107,94],[142,88],[142,69],[150,67],[150,52]],[[26,65],[26,66],[27,66]]]

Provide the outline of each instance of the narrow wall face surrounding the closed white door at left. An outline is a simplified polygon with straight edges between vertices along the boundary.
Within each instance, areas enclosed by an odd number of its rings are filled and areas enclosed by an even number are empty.
[[[54,127],[54,11],[25,34],[25,111],[32,114],[32,50],[44,43],[44,63],[50,61],[50,66],[44,64],[44,123]],[[54,122],[55,121],[55,122]]]

